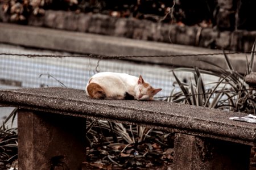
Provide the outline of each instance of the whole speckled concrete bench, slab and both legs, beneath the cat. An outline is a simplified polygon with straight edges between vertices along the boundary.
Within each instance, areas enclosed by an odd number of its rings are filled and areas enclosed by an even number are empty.
[[[63,156],[69,169],[85,160],[86,118],[159,128],[175,133],[175,169],[249,169],[256,125],[244,116],[164,101],[93,100],[82,90],[1,90],[0,105],[18,109],[19,169],[50,169]]]

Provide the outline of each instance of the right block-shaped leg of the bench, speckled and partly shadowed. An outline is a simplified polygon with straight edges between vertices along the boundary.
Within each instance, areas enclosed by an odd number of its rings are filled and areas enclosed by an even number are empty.
[[[250,146],[175,134],[174,169],[249,169]]]

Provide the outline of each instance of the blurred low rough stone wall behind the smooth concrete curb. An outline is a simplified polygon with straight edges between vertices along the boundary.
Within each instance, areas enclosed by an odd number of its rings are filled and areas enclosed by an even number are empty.
[[[235,51],[251,50],[256,37],[256,31],[218,31],[134,18],[51,10],[40,18],[31,15],[28,25]]]

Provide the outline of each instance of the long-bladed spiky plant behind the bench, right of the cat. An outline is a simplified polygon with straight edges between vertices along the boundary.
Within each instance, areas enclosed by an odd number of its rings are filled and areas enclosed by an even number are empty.
[[[254,49],[253,45],[250,62],[247,61],[246,74],[253,71],[254,62]],[[179,68],[172,70],[176,82],[180,90],[177,92],[172,91],[171,97],[168,101],[176,103],[184,103],[197,105],[201,107],[220,108],[228,111],[246,112],[256,114],[255,90],[249,88],[245,83],[245,75],[237,73],[233,69],[232,63],[224,52],[224,57],[228,69],[222,69],[213,62],[201,61],[211,66],[216,67],[214,71],[201,70],[197,67]],[[183,83],[177,78],[175,71],[190,71],[194,75],[194,79],[189,83]],[[216,76],[217,82],[204,83],[203,76]]]

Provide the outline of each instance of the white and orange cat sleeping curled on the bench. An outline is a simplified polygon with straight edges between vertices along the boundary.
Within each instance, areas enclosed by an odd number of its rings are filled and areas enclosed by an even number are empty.
[[[125,73],[102,72],[89,79],[86,95],[94,99],[137,99],[154,100],[162,88],[153,88],[144,82],[142,76]]]

